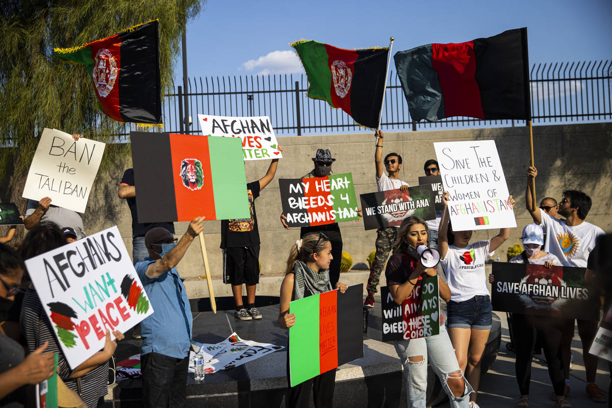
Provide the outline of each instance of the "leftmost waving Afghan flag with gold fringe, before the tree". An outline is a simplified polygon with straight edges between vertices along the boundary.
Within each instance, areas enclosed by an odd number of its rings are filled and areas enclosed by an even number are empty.
[[[85,65],[107,116],[119,122],[162,123],[158,20],[53,51],[65,61]]]

